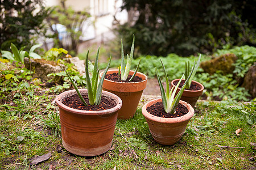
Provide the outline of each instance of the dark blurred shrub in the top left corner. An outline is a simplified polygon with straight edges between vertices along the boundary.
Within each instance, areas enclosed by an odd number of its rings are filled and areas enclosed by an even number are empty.
[[[0,3],[0,49],[32,46],[31,36],[44,35],[43,20],[51,13],[40,0],[2,0]],[[15,15],[17,14],[17,15]]]

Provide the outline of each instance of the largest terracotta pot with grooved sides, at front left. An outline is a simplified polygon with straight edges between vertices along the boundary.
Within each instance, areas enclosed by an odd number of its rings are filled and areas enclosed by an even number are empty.
[[[86,89],[79,90],[87,94]],[[110,92],[102,91],[102,96],[117,105],[103,111],[81,111],[67,107],[62,103],[65,97],[75,95],[75,90],[61,93],[56,98],[60,108],[60,124],[63,146],[72,154],[95,156],[108,151],[112,145],[115,122],[122,100]]]

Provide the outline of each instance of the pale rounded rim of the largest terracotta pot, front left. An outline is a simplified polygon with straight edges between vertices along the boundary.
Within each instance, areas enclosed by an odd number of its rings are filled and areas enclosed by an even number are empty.
[[[87,89],[86,88],[81,88],[81,89],[79,89],[79,91],[87,93]],[[102,110],[102,111],[84,111],[84,110],[70,108],[70,107],[64,105],[61,102],[61,100],[65,96],[72,96],[73,94],[76,94],[76,90],[75,89],[62,92],[55,99],[57,105],[61,109],[64,109],[65,111],[69,111],[69,112],[76,113],[76,114],[83,114],[83,115],[104,115],[104,114],[109,114],[109,113],[117,112],[122,107],[122,100],[120,99],[120,97],[118,97],[117,95],[114,95],[114,94],[112,94],[112,93],[110,93],[108,91],[104,91],[104,90],[102,90],[102,95],[112,98],[115,101],[115,103],[117,104],[117,105],[115,105],[115,107],[110,108],[110,109],[106,109],[106,110]]]

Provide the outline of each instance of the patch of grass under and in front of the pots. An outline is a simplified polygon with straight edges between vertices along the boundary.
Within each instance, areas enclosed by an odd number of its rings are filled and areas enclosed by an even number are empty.
[[[43,107],[41,107],[43,109]],[[48,111],[24,120],[24,114],[1,118],[1,169],[250,169],[255,168],[255,104],[236,101],[200,102],[181,140],[163,146],[152,138],[141,108],[134,118],[117,120],[112,148],[93,157],[76,156],[66,151]],[[7,112],[7,111],[1,111]],[[43,114],[47,113],[47,114]],[[26,115],[26,114],[25,114]],[[46,121],[42,121],[42,119]],[[250,120],[250,121],[249,121]],[[240,135],[236,130],[242,128]],[[230,147],[230,148],[225,148]],[[30,165],[36,156],[52,156]],[[254,158],[254,160],[250,160]]]

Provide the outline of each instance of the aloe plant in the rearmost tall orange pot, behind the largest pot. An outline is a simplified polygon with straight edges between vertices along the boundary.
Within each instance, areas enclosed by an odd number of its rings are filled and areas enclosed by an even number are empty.
[[[121,75],[121,80],[127,80],[130,69],[131,69],[131,61],[133,61],[133,53],[134,53],[134,41],[135,41],[135,37],[133,35],[133,43],[131,44],[131,52],[130,52],[130,56],[127,54],[127,62],[126,62],[126,66],[125,66],[125,55],[123,54],[123,42],[121,39],[121,70],[119,67],[119,71],[118,71],[118,77]],[[135,69],[135,72],[133,74],[133,76],[131,76],[131,78],[129,79],[129,82],[131,80],[133,80],[135,74],[137,73],[137,70],[139,68],[139,64],[141,63],[141,59],[139,60],[139,63]]]

